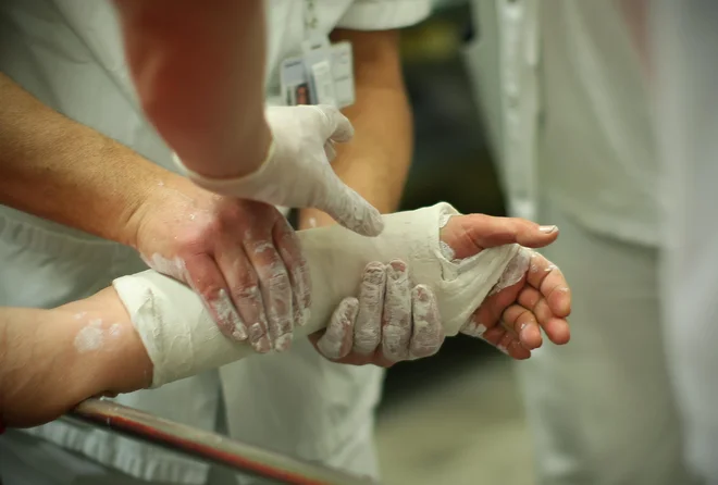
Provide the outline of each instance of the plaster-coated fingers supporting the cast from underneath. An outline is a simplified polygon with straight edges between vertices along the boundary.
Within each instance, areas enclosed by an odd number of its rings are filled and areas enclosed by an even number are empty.
[[[364,269],[359,298],[342,300],[317,349],[348,364],[391,366],[433,356],[444,343],[436,298],[425,285],[411,286],[407,264],[372,262]]]

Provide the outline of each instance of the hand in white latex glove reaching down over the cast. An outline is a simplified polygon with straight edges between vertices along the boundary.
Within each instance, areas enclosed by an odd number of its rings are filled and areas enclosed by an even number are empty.
[[[216,194],[289,208],[315,208],[343,226],[366,236],[379,235],[379,211],[344,184],[330,162],[334,142],[354,136],[349,120],[331,105],[270,107],[265,111],[273,141],[264,162],[239,178],[208,178],[188,171],[200,187]]]

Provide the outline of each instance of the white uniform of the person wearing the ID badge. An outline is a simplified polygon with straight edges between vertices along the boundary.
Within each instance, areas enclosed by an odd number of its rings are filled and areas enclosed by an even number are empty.
[[[69,117],[173,170],[170,150],[138,109],[108,1],[4,0],[0,9],[5,74]],[[304,9],[299,0],[267,1],[269,79],[277,78],[282,59],[300,53]],[[404,27],[425,17],[430,2],[317,0],[315,10],[319,32],[329,34],[335,27]],[[269,97],[275,88],[269,84]],[[0,207],[0,306],[58,306],[145,269],[126,247],[5,207]],[[305,339],[283,355],[247,359],[116,400],[205,430],[215,430],[219,418],[238,439],[376,476],[372,433],[382,377],[377,368],[333,364]],[[218,412],[222,395],[226,415]],[[104,484],[113,473],[160,483],[208,480],[206,463],[89,426],[55,422],[29,433],[0,439],[0,469],[13,470],[0,472],[5,485]]]

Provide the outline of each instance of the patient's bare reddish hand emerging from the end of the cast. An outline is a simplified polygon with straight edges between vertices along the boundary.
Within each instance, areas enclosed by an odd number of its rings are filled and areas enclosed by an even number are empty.
[[[557,345],[568,343],[571,291],[556,265],[529,248],[556,240],[558,228],[538,226],[515,217],[473,214],[454,216],[442,228],[441,239],[461,260],[484,248],[517,242],[523,248],[509,263],[502,279],[461,329],[515,359],[528,359],[541,347],[541,329]]]

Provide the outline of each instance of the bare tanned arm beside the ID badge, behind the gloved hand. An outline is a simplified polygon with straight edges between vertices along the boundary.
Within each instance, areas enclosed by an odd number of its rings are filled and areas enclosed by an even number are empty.
[[[381,212],[397,210],[411,162],[411,112],[399,59],[399,33],[337,29],[332,40],[351,40],[357,102],[344,113],[355,126],[351,144],[332,163],[351,188]],[[311,223],[310,223],[311,221]],[[326,214],[302,211],[302,228],[333,224]]]

